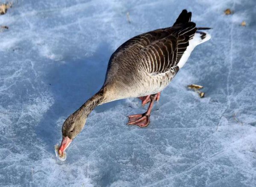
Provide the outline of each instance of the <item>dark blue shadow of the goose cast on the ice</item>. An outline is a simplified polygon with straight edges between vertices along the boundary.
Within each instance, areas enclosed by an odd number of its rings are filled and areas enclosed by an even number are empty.
[[[49,152],[62,138],[64,120],[87,99],[95,94],[104,83],[108,60],[113,53],[107,43],[102,43],[96,52],[85,59],[65,59],[54,63],[47,71],[44,82],[48,84],[53,104],[35,127],[40,141]],[[123,101],[114,101],[96,107],[96,112],[107,110]]]

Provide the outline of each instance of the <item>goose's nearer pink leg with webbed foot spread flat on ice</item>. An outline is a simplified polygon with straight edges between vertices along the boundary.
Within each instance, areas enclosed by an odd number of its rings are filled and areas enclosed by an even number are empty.
[[[153,108],[154,101],[157,100],[157,94],[150,95],[150,104],[148,106],[147,112],[143,114],[136,114],[136,115],[128,115],[129,121],[128,125],[137,125],[139,127],[147,127],[150,123],[149,117],[151,109]]]

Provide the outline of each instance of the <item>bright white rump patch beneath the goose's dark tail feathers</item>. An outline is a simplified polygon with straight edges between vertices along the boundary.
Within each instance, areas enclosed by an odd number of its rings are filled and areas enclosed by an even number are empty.
[[[201,36],[202,36],[201,33],[196,32],[195,36],[191,40],[189,40],[189,46],[187,46],[186,51],[183,53],[182,57],[180,58],[179,63],[177,64],[177,66],[179,66],[179,68],[182,68],[184,66],[186,61],[189,59],[189,56],[190,56],[191,52],[193,51],[193,49],[195,48],[195,46],[211,39],[211,35],[209,35],[207,32],[204,32],[204,33],[206,33],[206,36],[204,37],[204,39],[201,38]]]

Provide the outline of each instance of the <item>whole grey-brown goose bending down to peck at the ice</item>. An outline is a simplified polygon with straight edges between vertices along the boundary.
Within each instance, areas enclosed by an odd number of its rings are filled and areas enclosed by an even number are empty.
[[[137,35],[111,55],[102,88],[71,114],[62,126],[61,155],[84,128],[90,112],[98,105],[125,98],[140,98],[150,103],[145,113],[128,116],[128,125],[147,127],[151,109],[160,92],[184,66],[195,46],[211,36],[191,22],[184,9],[172,27]]]

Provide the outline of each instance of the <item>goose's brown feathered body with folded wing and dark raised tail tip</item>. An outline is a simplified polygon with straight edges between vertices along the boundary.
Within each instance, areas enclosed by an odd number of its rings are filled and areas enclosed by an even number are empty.
[[[172,81],[198,30],[190,20],[191,12],[183,10],[172,27],[137,35],[116,49],[104,83],[112,89],[112,100],[151,95]]]

